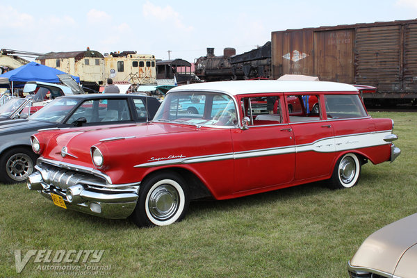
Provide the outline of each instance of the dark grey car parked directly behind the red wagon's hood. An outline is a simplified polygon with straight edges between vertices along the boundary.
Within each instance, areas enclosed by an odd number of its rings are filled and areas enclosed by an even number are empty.
[[[159,106],[154,97],[72,95],[54,99],[27,119],[0,122],[0,182],[22,182],[33,172],[38,155],[31,149],[30,136],[38,129],[146,122]]]

